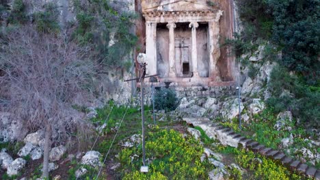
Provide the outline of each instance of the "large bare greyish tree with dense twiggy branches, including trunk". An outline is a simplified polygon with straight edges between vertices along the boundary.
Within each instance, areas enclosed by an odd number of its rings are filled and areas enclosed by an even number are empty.
[[[33,26],[0,36],[0,94],[8,110],[27,130],[45,130],[43,177],[49,177],[53,142],[85,125],[73,104],[89,100],[94,61],[90,46],[77,46],[68,35],[38,33]]]

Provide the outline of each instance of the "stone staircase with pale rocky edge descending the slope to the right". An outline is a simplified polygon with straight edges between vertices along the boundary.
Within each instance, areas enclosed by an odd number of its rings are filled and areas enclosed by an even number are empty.
[[[299,172],[306,177],[315,178],[320,180],[320,170],[315,167],[308,166],[299,160],[294,160],[292,157],[286,156],[283,152],[265,147],[260,145],[254,140],[245,138],[240,134],[233,132],[228,127],[223,127],[219,123],[213,123],[208,118],[198,117],[198,118],[183,118],[190,125],[199,126],[206,132],[209,138],[217,139],[222,145],[229,145],[230,147],[236,148],[246,148],[254,151],[255,153],[260,153],[266,157],[272,158],[277,162],[280,162],[287,168]]]

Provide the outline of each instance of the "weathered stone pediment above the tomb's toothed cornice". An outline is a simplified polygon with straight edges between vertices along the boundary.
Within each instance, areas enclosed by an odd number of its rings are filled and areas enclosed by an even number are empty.
[[[207,0],[142,0],[142,12],[208,11],[214,7]]]

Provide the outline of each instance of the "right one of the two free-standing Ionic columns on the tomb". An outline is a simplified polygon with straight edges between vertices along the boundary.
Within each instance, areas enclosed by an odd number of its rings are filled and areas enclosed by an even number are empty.
[[[198,52],[197,52],[197,31],[196,29],[199,27],[197,22],[191,22],[189,24],[191,27],[192,35],[191,35],[191,61],[192,61],[192,72],[194,73],[194,77],[199,77],[198,72]]]

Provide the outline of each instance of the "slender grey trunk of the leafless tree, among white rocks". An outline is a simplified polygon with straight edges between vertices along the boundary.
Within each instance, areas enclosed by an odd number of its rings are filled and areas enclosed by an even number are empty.
[[[49,152],[51,148],[51,125],[46,123],[46,130],[44,132],[44,152],[43,152],[43,171],[42,178],[49,179]]]

